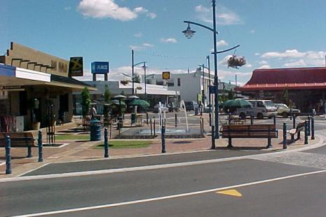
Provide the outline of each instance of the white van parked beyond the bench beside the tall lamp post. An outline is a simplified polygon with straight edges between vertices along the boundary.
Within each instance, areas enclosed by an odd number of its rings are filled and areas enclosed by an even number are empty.
[[[271,100],[247,100],[252,104],[252,108],[240,108],[237,113],[240,118],[245,118],[246,116],[251,116],[251,113],[254,117],[262,119],[264,117],[272,118],[278,114],[278,108],[273,105]]]

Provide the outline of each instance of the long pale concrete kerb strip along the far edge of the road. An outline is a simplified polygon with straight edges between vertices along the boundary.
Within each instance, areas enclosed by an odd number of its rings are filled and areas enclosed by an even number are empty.
[[[47,175],[36,175],[36,176],[18,176],[12,178],[4,178],[0,179],[0,183],[11,182],[11,181],[28,181],[28,180],[38,180],[38,179],[56,179],[56,178],[69,178],[69,177],[76,177],[76,176],[90,176],[90,175],[101,175],[101,174],[112,174],[117,172],[135,172],[135,171],[143,171],[149,169],[166,169],[171,167],[186,167],[192,165],[203,165],[203,164],[210,164],[215,162],[226,162],[232,160],[243,160],[243,159],[254,159],[257,156],[266,156],[266,155],[276,155],[276,154],[285,154],[297,151],[305,151],[311,148],[318,148],[320,146],[324,146],[323,141],[325,141],[325,137],[318,135],[320,137],[320,141],[318,144],[313,146],[307,146],[304,148],[283,151],[283,152],[275,152],[275,153],[264,153],[259,155],[245,155],[245,156],[238,156],[232,158],[219,158],[219,159],[212,159],[212,160],[198,160],[198,161],[191,161],[191,162],[179,162],[179,163],[172,163],[172,164],[165,164],[165,165],[150,165],[150,166],[142,166],[142,167],[127,167],[127,168],[118,168],[118,169],[102,169],[102,170],[95,170],[95,171],[86,171],[86,172],[69,172],[63,174],[47,174]]]

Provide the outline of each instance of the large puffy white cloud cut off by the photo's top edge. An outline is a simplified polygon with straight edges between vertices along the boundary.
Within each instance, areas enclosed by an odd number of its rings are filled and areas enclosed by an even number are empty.
[[[82,0],[77,8],[82,15],[90,18],[112,18],[114,20],[135,20],[139,14],[147,14],[150,18],[156,18],[154,13],[149,13],[146,8],[137,7],[133,10],[120,7],[114,0]]]

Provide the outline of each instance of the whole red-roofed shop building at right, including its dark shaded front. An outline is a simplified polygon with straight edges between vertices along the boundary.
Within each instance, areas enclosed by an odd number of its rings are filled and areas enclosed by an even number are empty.
[[[310,113],[311,109],[324,113],[326,67],[256,69],[250,80],[236,90],[253,99],[290,103],[303,113]]]

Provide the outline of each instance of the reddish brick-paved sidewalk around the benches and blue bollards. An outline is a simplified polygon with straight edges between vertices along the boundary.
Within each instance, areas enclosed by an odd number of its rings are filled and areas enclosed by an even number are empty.
[[[74,129],[76,125],[69,123],[57,127],[57,132],[64,132],[67,129]],[[45,130],[43,130],[43,133]],[[210,127],[205,127],[205,132],[210,133]],[[37,132],[34,132],[37,133]],[[114,130],[113,134],[118,132]],[[158,136],[160,137],[160,135]],[[37,138],[35,136],[35,138]],[[240,150],[261,150],[264,151],[282,151],[282,132],[279,131],[278,139],[272,139],[273,148],[266,149],[267,139],[233,139],[232,144],[234,149]],[[287,137],[289,138],[289,137]],[[126,158],[139,155],[153,155],[161,154],[161,138],[150,139],[152,144],[147,148],[110,148],[110,158]],[[46,139],[43,135],[43,141]],[[133,140],[128,140],[130,143]],[[309,146],[318,143],[319,139],[309,139]],[[32,148],[33,158],[26,158],[27,148],[11,148],[12,155],[12,172],[11,175],[6,175],[6,165],[4,162],[5,150],[0,150],[0,179],[4,177],[19,176],[28,172],[31,169],[36,169],[42,165],[46,165],[50,162],[70,162],[79,160],[98,160],[104,158],[104,150],[102,148],[95,148],[98,144],[102,144],[103,141],[60,141],[67,143],[66,146],[61,147],[43,147],[43,159],[44,162],[38,162],[38,148]],[[217,139],[215,142],[217,149],[225,149],[227,146],[227,139]],[[211,138],[206,136],[204,139],[166,139],[166,151],[167,153],[185,153],[193,151],[210,151]],[[289,149],[304,147],[304,136],[301,134],[301,139],[297,140],[294,144],[288,146]],[[248,153],[250,154],[250,153]],[[2,163],[2,165],[1,165]]]

